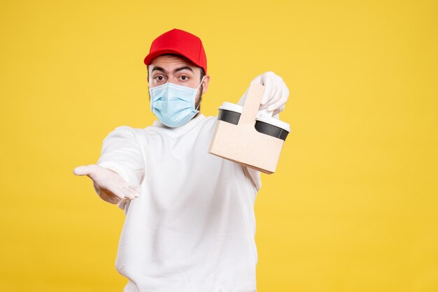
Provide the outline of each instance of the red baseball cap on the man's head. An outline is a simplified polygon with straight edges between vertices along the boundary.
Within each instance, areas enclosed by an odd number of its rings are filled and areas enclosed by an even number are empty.
[[[144,63],[149,65],[162,54],[180,54],[207,73],[207,57],[200,38],[181,29],[172,29],[155,38]]]

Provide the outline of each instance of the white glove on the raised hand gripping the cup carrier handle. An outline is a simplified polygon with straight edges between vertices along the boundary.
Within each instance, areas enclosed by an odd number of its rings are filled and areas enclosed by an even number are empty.
[[[274,72],[266,72],[262,75],[258,75],[253,81],[251,81],[251,83],[252,82],[264,85],[260,110],[266,108],[269,112],[273,112],[273,115],[277,115],[284,110],[284,105],[289,97],[289,89],[280,76],[276,75]],[[247,94],[248,89],[246,89],[245,94],[241,97],[239,105],[245,103]]]

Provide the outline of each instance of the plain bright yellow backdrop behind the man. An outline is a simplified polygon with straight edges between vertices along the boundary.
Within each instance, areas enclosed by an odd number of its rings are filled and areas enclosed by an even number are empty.
[[[438,291],[437,3],[1,1],[0,291],[122,291],[124,215],[72,170],[151,124],[143,57],[174,27],[204,42],[205,115],[264,71],[290,89],[258,291]]]

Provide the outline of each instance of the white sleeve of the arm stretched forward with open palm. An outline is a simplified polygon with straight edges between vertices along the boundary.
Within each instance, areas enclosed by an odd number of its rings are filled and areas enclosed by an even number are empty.
[[[126,182],[139,187],[145,173],[142,148],[134,130],[120,126],[104,139],[97,165],[115,171]]]

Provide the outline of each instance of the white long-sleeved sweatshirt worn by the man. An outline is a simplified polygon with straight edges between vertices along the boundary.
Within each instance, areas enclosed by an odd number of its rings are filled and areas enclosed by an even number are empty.
[[[178,128],[121,126],[98,165],[140,189],[122,201],[116,260],[125,292],[253,292],[260,173],[207,151],[216,117]]]

